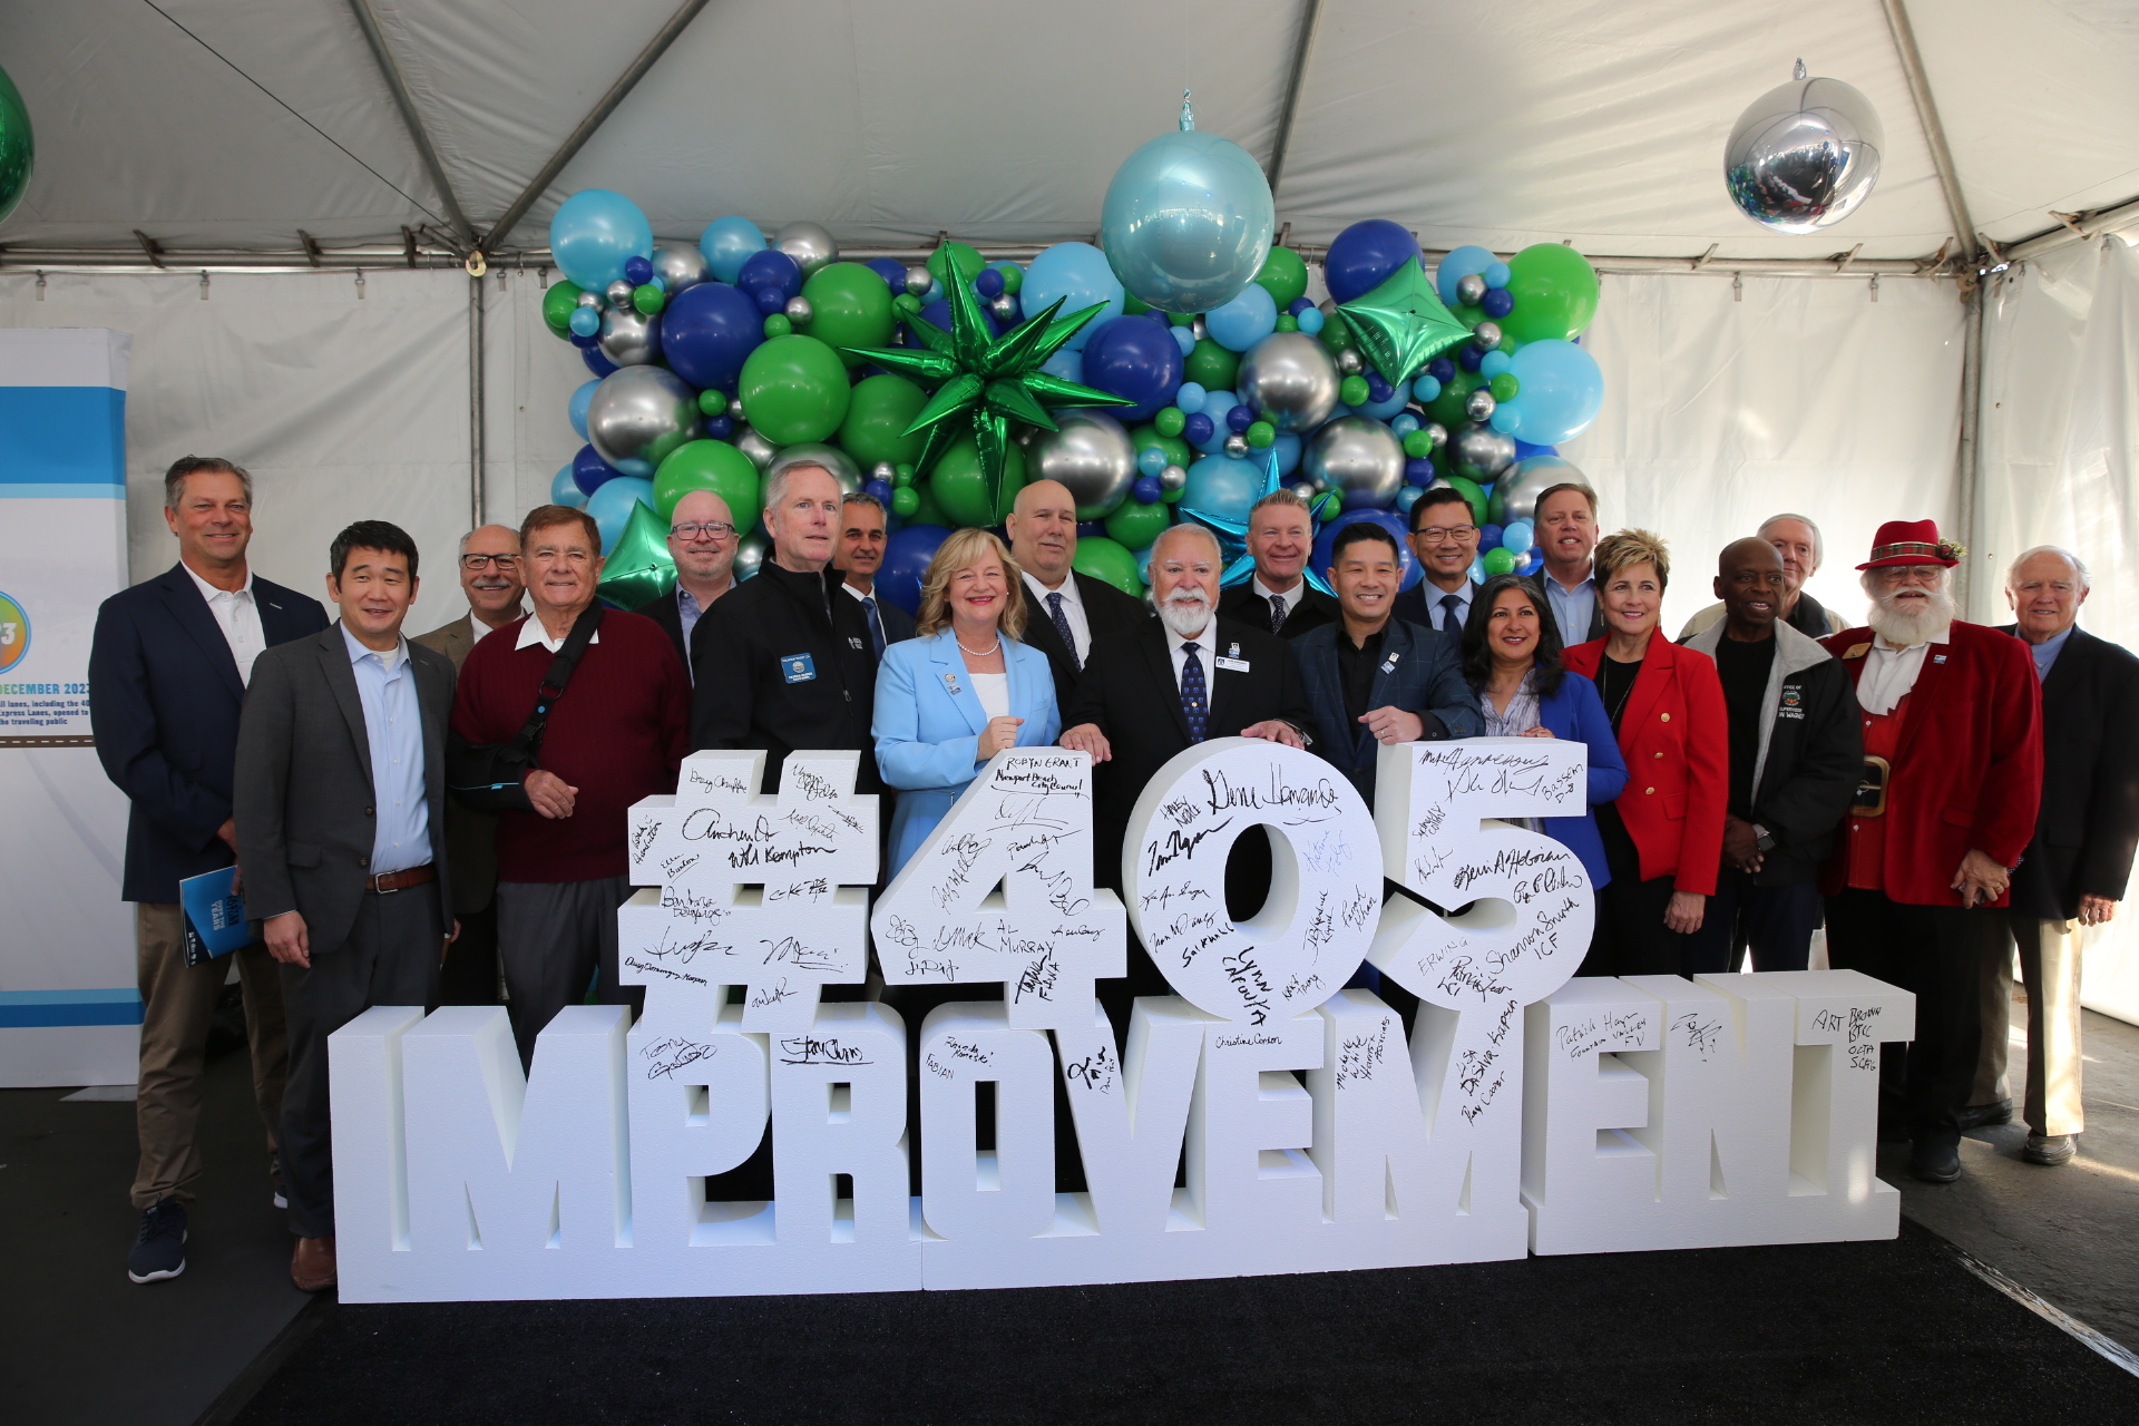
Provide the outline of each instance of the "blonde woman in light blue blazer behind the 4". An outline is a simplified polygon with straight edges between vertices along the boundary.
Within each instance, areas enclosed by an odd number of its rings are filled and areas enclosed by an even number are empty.
[[[913,637],[883,650],[873,733],[877,768],[898,789],[894,877],[990,757],[1061,735],[1048,658],[1018,644],[1025,614],[1025,579],[1003,541],[958,530],[922,577]]]

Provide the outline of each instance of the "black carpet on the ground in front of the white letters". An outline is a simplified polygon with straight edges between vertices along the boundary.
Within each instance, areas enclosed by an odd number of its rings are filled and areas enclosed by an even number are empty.
[[[1942,1240],[1129,1287],[329,1306],[302,1422],[2115,1422],[2139,1377]]]

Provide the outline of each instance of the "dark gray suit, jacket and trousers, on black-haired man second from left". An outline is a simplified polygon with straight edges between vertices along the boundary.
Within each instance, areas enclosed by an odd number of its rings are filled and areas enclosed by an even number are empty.
[[[376,793],[364,699],[340,624],[270,648],[237,725],[233,804],[246,913],[304,915],[310,968],[282,964],[289,1084],[282,1180],[291,1229],[334,1234],[327,1037],[372,1005],[430,1005],[453,930],[445,855],[445,727],[453,663],[409,644],[424,718],[424,804],[436,881],[370,892]]]

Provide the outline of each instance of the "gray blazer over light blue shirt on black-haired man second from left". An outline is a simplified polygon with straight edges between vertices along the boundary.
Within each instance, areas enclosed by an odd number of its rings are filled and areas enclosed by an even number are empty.
[[[453,663],[409,646],[424,710],[424,802],[441,885],[438,934],[453,928],[445,855],[445,725],[453,710]],[[252,665],[237,723],[237,862],[246,913],[265,921],[302,911],[312,951],[349,939],[364,902],[376,815],[372,748],[342,626],[278,644]]]

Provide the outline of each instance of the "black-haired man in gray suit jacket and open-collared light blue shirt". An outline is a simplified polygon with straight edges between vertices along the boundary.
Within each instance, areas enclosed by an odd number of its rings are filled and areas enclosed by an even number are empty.
[[[252,665],[233,795],[246,911],[282,962],[282,1176],[302,1291],[336,1283],[327,1037],[372,1005],[436,1001],[453,936],[453,665],[400,633],[417,592],[415,541],[359,520],[334,539],[329,562],[342,622]]]

